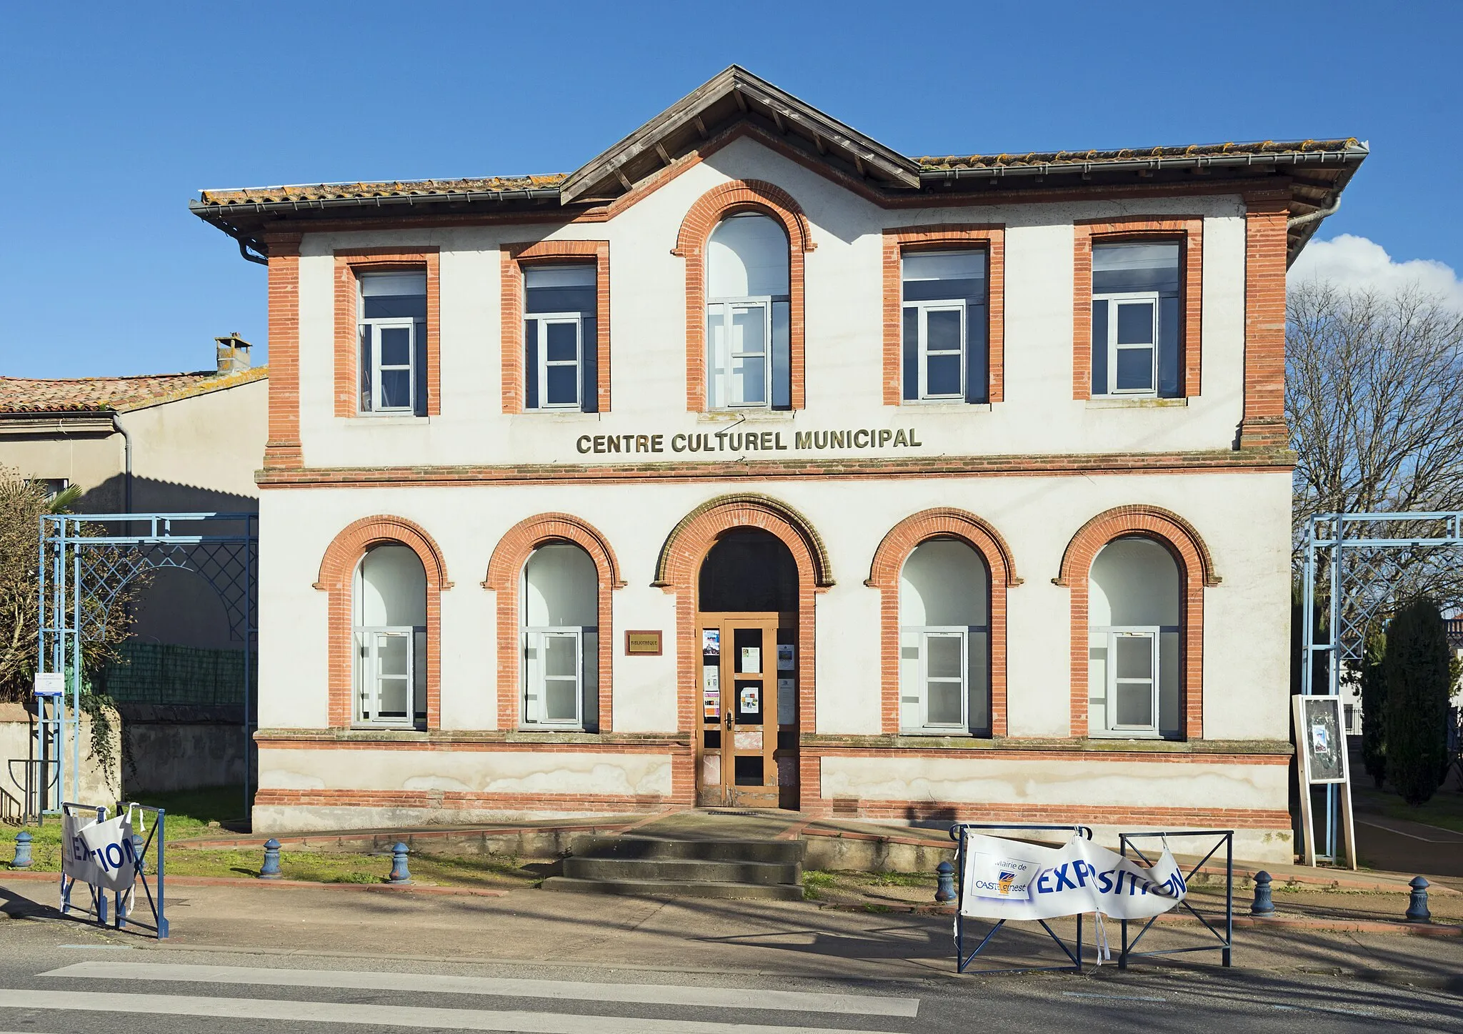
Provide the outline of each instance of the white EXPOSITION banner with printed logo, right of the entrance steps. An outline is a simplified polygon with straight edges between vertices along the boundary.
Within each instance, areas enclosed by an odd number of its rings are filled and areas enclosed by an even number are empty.
[[[1037,847],[966,832],[961,916],[1056,918],[1102,913],[1148,918],[1169,911],[1188,886],[1167,847],[1146,869],[1116,851],[1074,837],[1065,847]]]

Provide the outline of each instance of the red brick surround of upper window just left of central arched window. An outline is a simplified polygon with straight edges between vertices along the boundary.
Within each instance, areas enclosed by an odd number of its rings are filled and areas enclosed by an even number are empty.
[[[522,412],[524,377],[524,266],[563,259],[594,259],[595,290],[595,405],[610,411],[610,241],[540,240],[503,244],[502,342],[503,412]]]

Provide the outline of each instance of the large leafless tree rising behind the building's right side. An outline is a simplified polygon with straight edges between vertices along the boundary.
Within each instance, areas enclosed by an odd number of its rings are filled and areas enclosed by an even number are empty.
[[[1296,554],[1315,513],[1463,509],[1463,313],[1419,288],[1289,291],[1286,420]],[[1437,534],[1437,527],[1390,531]],[[1463,601],[1456,551],[1378,554],[1385,595]]]

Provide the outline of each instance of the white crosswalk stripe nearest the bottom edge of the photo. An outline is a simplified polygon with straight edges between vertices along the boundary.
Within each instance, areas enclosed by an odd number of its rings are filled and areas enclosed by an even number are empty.
[[[522,1034],[806,1034],[828,1027],[774,1027],[718,1024],[704,1019],[648,1019],[505,1009],[439,1009],[407,1005],[347,1002],[290,1002],[257,997],[202,997],[195,995],[126,995],[110,992],[45,992],[0,989],[0,1009],[51,1009],[57,1012],[124,1012],[154,1016],[208,1016],[212,1019],[288,1019],[297,1024],[360,1024],[363,1027],[415,1027],[445,1031],[521,1031]],[[860,1034],[892,1034],[860,1031]]]

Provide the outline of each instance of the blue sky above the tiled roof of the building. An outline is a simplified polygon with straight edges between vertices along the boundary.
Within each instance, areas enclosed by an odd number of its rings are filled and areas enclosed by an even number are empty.
[[[1317,262],[1447,290],[1460,37],[1457,0],[9,4],[0,374],[263,344],[265,271],[200,187],[571,171],[732,63],[913,155],[1356,136]]]

